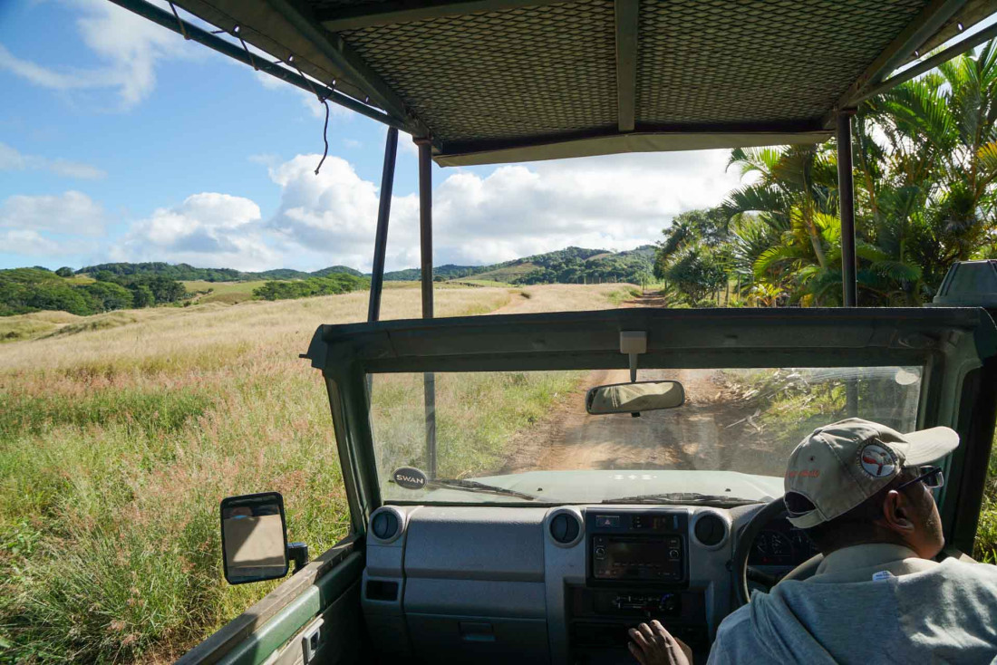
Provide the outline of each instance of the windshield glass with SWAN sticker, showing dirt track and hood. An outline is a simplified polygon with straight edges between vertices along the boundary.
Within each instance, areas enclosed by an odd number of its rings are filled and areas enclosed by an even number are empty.
[[[628,382],[626,370],[373,375],[382,496],[767,500],[782,494],[790,453],[817,427],[857,416],[914,430],[921,369],[639,371],[638,381],[658,380],[680,382],[685,403],[635,417],[585,409],[589,389]]]

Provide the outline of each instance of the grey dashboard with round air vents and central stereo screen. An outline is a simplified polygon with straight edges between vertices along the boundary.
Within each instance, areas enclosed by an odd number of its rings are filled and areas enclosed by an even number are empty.
[[[705,657],[734,607],[736,534],[761,507],[382,506],[367,629],[385,662],[631,664],[627,630],[658,619]],[[798,535],[777,519],[751,556],[788,571],[810,558]]]

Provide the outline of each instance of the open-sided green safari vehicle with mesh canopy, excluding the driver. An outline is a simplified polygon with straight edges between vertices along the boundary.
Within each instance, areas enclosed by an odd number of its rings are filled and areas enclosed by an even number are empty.
[[[750,587],[813,574],[782,476],[801,437],[834,416],[957,430],[937,500],[945,555],[971,550],[997,328],[980,307],[854,307],[849,112],[992,37],[890,77],[992,3],[175,3],[211,31],[172,5],[113,1],[390,128],[369,321],[321,326],[304,354],[327,388],[351,532],[306,563],[279,496],[225,499],[230,582],[284,576],[291,558],[297,570],[180,662],[630,662],[625,630],[652,617],[702,659]],[[400,130],[419,146],[424,318],[379,322]],[[845,307],[433,318],[434,160],[835,132]],[[523,386],[557,394],[536,427],[461,439],[458,424]]]

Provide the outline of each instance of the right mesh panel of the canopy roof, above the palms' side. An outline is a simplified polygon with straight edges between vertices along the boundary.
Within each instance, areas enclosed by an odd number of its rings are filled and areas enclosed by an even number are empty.
[[[637,122],[820,117],[924,5],[923,0],[642,0]]]

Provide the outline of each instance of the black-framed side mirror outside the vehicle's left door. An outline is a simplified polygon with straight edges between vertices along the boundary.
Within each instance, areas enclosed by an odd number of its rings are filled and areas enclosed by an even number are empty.
[[[221,550],[229,584],[287,574],[284,498],[276,492],[221,499]]]

